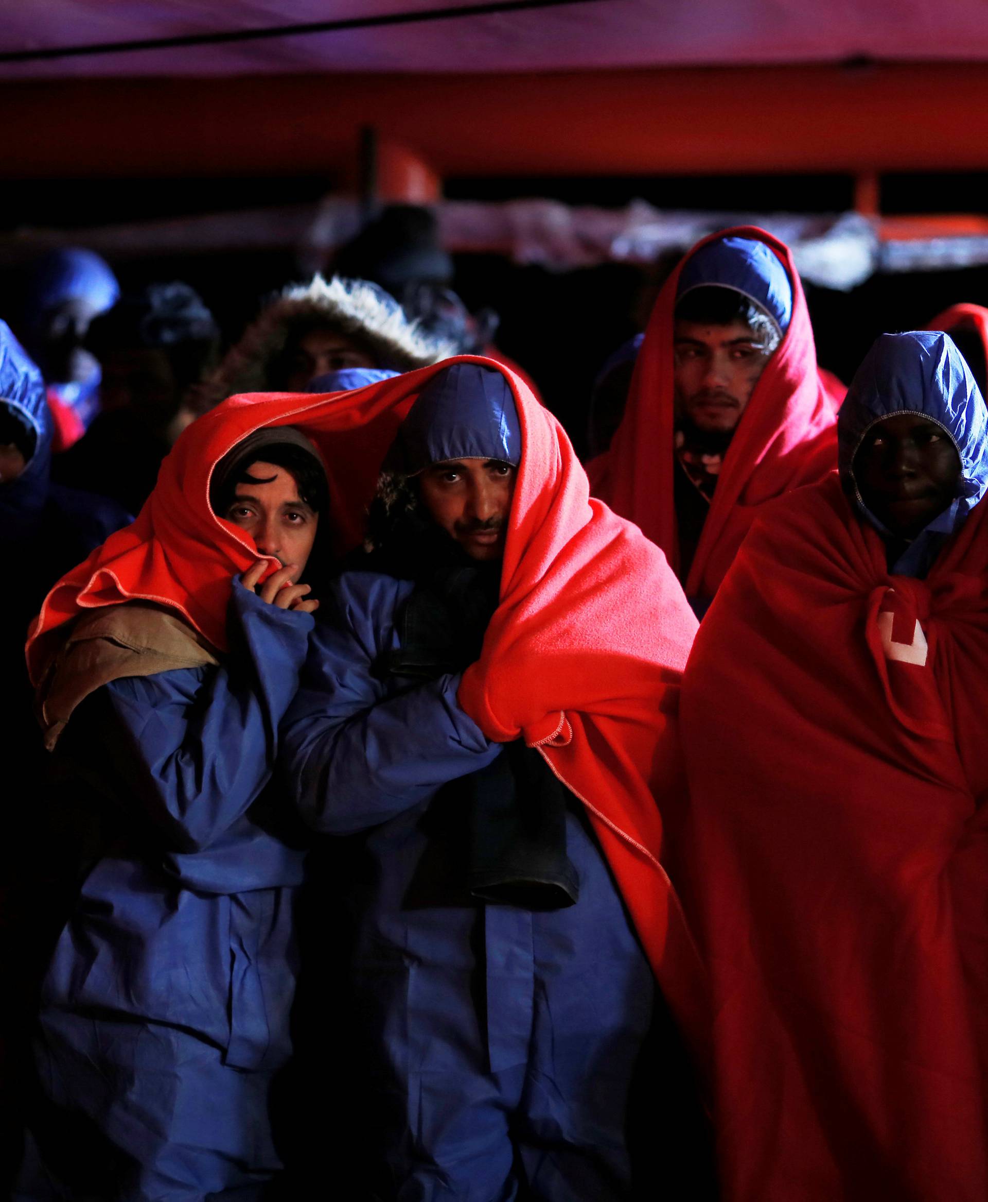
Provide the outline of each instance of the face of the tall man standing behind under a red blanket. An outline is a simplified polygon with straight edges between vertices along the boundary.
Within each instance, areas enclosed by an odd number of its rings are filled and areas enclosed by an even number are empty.
[[[705,434],[730,434],[772,357],[747,322],[676,321],[672,332],[676,412]]]

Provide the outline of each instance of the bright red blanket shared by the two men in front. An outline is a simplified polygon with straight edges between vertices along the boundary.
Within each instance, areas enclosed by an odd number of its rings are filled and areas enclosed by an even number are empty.
[[[346,552],[363,537],[400,422],[424,385],[454,362],[503,373],[523,440],[502,601],[461,702],[490,738],[538,744],[586,804],[669,1000],[695,1031],[700,977],[659,867],[659,809],[682,787],[676,708],[696,621],[663,553],[589,499],[559,424],[493,361],[461,356],[346,393],[234,397],[200,417],[164,460],[133,525],[49,593],[28,645],[34,679],[71,619],[130,600],[173,608],[224,649],[232,578],[258,557],[247,535],[209,507],[215,465],[262,427],[301,430],[324,457],[336,548]]]

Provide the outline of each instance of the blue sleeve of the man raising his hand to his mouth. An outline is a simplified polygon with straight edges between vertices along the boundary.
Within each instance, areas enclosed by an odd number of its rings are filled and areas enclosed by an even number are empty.
[[[100,690],[100,743],[167,851],[209,847],[257,799],[299,683],[313,620],[234,582],[220,667],[126,677]],[[108,710],[108,712],[107,712]]]

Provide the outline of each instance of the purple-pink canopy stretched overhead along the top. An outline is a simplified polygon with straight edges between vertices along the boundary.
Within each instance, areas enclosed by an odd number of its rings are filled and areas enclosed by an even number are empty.
[[[47,0],[8,5],[0,54],[369,20],[479,0]],[[483,2],[483,0],[480,0]],[[531,2],[531,0],[529,0]],[[485,4],[485,10],[491,5]],[[517,72],[595,67],[988,59],[983,0],[580,0],[261,41],[100,53],[0,65],[0,78],[294,72]]]

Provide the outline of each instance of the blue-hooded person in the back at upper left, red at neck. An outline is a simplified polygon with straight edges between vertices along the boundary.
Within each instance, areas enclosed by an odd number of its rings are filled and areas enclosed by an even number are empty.
[[[31,273],[24,337],[48,385],[55,453],[77,442],[100,410],[100,364],[85,337],[119,297],[116,276],[91,250],[53,250]]]

